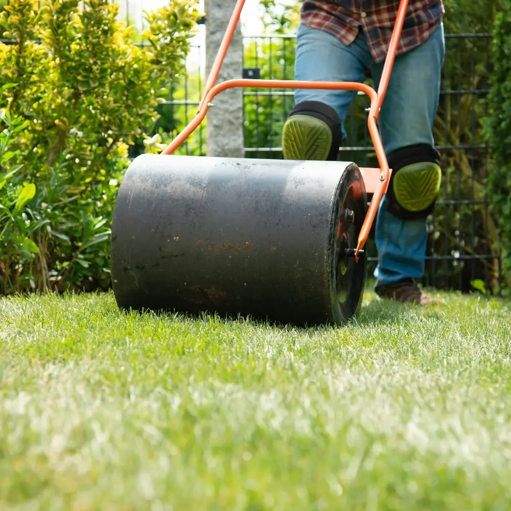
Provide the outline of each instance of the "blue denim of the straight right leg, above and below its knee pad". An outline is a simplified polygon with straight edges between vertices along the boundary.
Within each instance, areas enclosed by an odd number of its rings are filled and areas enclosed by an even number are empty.
[[[413,144],[434,145],[432,126],[438,108],[444,54],[444,28],[440,26],[420,47],[394,61],[379,119],[386,154]],[[383,63],[371,69],[376,87],[382,69]],[[376,221],[376,292],[380,286],[403,278],[421,278],[426,245],[427,219],[396,218],[386,211],[384,197]]]

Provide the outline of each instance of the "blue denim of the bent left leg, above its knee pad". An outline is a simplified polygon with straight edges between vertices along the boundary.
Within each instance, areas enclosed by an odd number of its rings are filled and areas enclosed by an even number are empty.
[[[307,81],[363,82],[371,55],[361,35],[345,46],[336,37],[300,25],[296,35],[295,79]],[[295,103],[321,101],[335,109],[342,123],[356,92],[350,90],[297,89]]]

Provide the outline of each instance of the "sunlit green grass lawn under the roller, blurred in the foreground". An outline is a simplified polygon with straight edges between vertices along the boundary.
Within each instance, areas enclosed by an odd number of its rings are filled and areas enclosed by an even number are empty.
[[[511,508],[511,306],[344,328],[0,301],[0,509]]]

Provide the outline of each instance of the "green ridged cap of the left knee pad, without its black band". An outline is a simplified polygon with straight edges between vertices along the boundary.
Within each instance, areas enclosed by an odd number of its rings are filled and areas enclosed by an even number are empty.
[[[326,160],[332,147],[332,131],[327,123],[309,115],[294,115],[282,133],[284,159]]]

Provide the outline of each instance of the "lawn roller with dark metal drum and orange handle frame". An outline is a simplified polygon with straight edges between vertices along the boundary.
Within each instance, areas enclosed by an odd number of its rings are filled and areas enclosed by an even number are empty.
[[[230,18],[195,119],[161,154],[138,156],[126,171],[112,221],[115,300],[123,310],[342,324],[361,305],[364,245],[390,177],[377,120],[408,1],[400,2],[378,91],[358,82],[215,84],[244,3]],[[231,87],[363,92],[380,167],[174,155]]]

